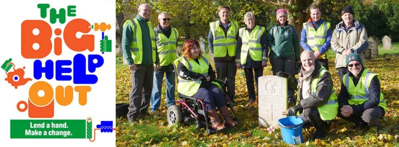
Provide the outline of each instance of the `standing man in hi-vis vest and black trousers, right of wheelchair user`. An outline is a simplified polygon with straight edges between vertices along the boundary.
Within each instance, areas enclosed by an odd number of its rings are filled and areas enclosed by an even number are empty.
[[[209,23],[208,45],[213,53],[218,79],[227,79],[227,96],[234,102],[236,66],[235,49],[237,46],[238,25],[228,20],[230,8],[222,5],[217,8],[220,20]]]

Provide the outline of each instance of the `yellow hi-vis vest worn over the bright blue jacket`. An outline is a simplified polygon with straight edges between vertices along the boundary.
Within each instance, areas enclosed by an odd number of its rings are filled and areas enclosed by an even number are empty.
[[[307,22],[303,23],[303,28],[306,30],[306,39],[307,43],[312,48],[313,52],[319,50],[321,46],[323,46],[324,42],[326,42],[327,30],[330,29],[330,22],[324,21],[320,24],[319,28],[315,30],[314,27],[309,26]],[[327,59],[326,53],[320,55],[320,59]]]

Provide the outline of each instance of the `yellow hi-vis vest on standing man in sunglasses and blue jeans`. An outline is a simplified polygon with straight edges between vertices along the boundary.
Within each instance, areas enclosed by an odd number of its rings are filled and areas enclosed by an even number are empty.
[[[173,61],[178,58],[176,55],[176,45],[178,43],[179,32],[176,28],[171,27],[171,29],[171,36],[168,38],[164,33],[158,33],[158,29],[154,28],[161,66],[173,64]]]

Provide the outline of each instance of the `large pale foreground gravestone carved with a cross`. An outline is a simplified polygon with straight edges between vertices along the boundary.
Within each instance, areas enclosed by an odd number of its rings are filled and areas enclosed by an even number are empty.
[[[279,76],[262,76],[259,83],[259,126],[280,128],[278,120],[287,111],[287,79]]]

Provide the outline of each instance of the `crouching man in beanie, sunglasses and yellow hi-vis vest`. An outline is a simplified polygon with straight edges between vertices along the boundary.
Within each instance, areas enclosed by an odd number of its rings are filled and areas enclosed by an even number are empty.
[[[338,96],[338,117],[355,123],[355,128],[374,127],[381,129],[387,104],[381,93],[380,75],[367,70],[363,59],[357,53],[346,57],[349,73],[343,77]],[[376,132],[374,132],[376,133]]]

